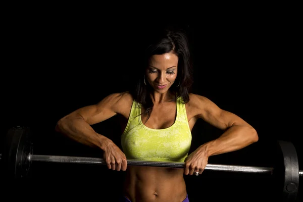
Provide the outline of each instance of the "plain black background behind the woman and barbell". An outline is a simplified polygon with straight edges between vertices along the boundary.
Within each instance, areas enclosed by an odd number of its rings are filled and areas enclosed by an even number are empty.
[[[101,151],[57,134],[57,121],[109,93],[127,90],[144,32],[158,23],[173,22],[189,36],[192,92],[239,115],[259,134],[257,143],[210,157],[209,163],[271,167],[276,140],[291,141],[301,159],[301,32],[295,12],[226,11],[182,20],[121,15],[114,20],[113,15],[88,10],[18,8],[10,10],[4,21],[1,130],[6,134],[13,126],[31,127],[34,154],[102,157]],[[115,121],[93,128],[119,144]],[[191,151],[221,133],[199,120],[192,131]],[[107,201],[105,197],[121,194],[124,177],[104,166],[42,163],[33,164],[32,175],[32,180],[14,182],[9,189],[22,186],[43,197],[60,193],[60,197]],[[270,177],[257,174],[205,171],[185,179],[190,201],[271,200],[279,194]]]

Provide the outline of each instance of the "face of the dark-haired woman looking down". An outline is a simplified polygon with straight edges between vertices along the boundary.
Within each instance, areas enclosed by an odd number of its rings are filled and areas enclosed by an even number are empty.
[[[178,57],[175,54],[154,55],[146,69],[146,80],[157,92],[164,93],[175,82],[177,70]]]

